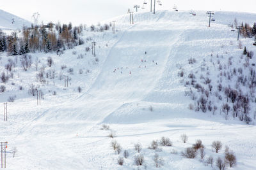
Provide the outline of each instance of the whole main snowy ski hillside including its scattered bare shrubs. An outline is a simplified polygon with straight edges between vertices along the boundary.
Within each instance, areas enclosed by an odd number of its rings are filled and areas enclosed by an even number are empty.
[[[218,169],[234,153],[227,169],[255,169],[255,40],[228,25],[252,27],[256,14],[214,18],[157,11],[130,24],[127,14],[102,23],[110,29],[82,26],[83,43],[58,54],[1,52],[7,168]]]

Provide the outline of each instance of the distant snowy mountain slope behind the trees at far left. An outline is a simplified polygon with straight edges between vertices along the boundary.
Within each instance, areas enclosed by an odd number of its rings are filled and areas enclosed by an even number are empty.
[[[0,29],[17,30],[22,29],[24,25],[30,26],[31,22],[17,17],[16,15],[12,15],[12,13],[0,10]]]

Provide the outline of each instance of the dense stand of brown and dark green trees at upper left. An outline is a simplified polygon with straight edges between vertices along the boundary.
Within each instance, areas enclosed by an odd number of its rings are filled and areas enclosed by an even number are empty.
[[[22,55],[28,52],[60,52],[70,49],[84,42],[78,36],[83,27],[72,27],[72,24],[36,25],[35,27],[23,27],[22,36],[17,32],[10,35],[0,30],[0,52],[8,52],[9,55]]]

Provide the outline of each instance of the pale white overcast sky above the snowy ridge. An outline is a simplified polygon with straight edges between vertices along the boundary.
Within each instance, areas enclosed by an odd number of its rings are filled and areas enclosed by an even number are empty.
[[[149,9],[150,0],[145,0]],[[152,0],[154,1],[154,0]],[[156,0],[157,1],[157,0]],[[127,13],[134,4],[144,0],[1,0],[0,9],[32,22],[34,12],[40,13],[40,22],[72,22],[74,25],[92,24]],[[256,0],[162,0],[157,10],[225,10],[256,13]],[[144,11],[146,11],[146,9]],[[142,9],[140,9],[142,11]],[[256,18],[255,18],[256,20]]]

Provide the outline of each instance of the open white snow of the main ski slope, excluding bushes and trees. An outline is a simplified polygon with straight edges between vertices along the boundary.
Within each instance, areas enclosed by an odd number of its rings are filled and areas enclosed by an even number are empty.
[[[5,102],[9,96],[17,97],[8,103],[8,122],[1,120],[0,124],[0,140],[8,141],[7,169],[157,169],[152,160],[156,151],[148,146],[162,136],[170,138],[173,146],[161,146],[162,151],[157,152],[164,160],[161,169],[217,169],[204,161],[209,156],[214,160],[224,157],[225,145],[237,157],[237,166],[229,169],[256,169],[255,126],[225,120],[218,113],[189,110],[191,100],[184,96],[188,89],[178,76],[180,66],[188,73],[198,69],[188,64],[191,57],[202,62],[211,53],[243,52],[237,48],[237,32],[227,26],[235,17],[252,25],[256,15],[216,12],[211,27],[205,11],[196,16],[188,11],[136,13],[134,25],[129,25],[129,15],[124,15],[107,21],[116,20],[115,35],[84,31],[84,40],[92,40],[61,56],[31,53],[32,67],[27,72],[16,67],[0,98]],[[84,50],[92,41],[97,42],[96,57]],[[242,38],[242,42],[256,53],[252,39]],[[79,55],[83,57],[77,58]],[[49,56],[54,61],[52,67],[46,64]],[[10,58],[15,60],[1,53],[1,72]],[[47,79],[47,85],[36,82],[36,58],[38,67],[45,65],[45,72],[56,71],[56,78]],[[63,65],[67,69],[61,69]],[[68,73],[70,68],[73,73]],[[213,66],[209,69],[214,71]],[[69,87],[63,87],[60,73],[71,78]],[[44,93],[41,106],[36,106],[36,97],[28,95],[31,83]],[[20,85],[24,90],[19,90]],[[81,93],[77,87],[82,88]],[[102,124],[108,124],[115,132],[114,140],[129,151],[124,166],[117,164],[119,155],[111,148],[113,139],[107,137],[111,131],[101,130]],[[181,134],[188,135],[188,143],[182,143]],[[205,160],[180,154],[196,139],[205,145]],[[223,143],[220,153],[212,152],[211,143],[216,140]],[[139,167],[133,162],[138,142],[145,157],[144,166]],[[13,158],[15,147],[18,151]]]

